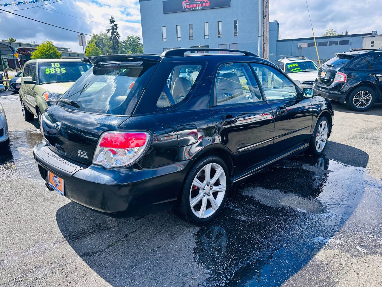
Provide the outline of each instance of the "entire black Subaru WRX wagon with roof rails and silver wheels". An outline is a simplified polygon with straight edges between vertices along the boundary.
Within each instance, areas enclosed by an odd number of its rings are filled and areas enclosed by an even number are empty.
[[[219,51],[225,54],[193,54]],[[320,155],[329,100],[246,51],[102,55],[41,117],[47,187],[102,212],[219,214],[229,188],[287,157]]]

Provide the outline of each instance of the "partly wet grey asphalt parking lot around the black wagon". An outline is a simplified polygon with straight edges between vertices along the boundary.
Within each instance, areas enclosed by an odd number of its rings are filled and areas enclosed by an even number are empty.
[[[55,192],[32,156],[41,135],[19,96],[0,101],[2,286],[381,286],[382,105],[335,106],[325,155],[299,155],[231,189],[195,227],[172,211],[112,218]]]

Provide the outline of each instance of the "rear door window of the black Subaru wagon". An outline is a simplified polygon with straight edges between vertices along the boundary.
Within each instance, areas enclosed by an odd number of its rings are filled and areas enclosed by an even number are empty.
[[[218,106],[262,101],[259,87],[247,63],[222,65],[217,73],[215,88]]]

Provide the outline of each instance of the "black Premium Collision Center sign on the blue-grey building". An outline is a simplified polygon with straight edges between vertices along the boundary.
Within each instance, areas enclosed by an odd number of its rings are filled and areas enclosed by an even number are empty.
[[[163,1],[163,13],[230,7],[231,0],[167,0]]]

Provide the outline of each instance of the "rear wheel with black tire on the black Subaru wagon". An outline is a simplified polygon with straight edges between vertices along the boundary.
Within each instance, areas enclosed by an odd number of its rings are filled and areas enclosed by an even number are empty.
[[[202,158],[186,176],[178,199],[178,213],[196,225],[210,222],[222,210],[229,186],[225,162],[216,156]]]

